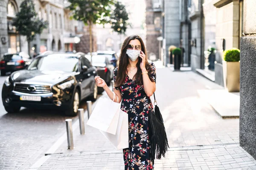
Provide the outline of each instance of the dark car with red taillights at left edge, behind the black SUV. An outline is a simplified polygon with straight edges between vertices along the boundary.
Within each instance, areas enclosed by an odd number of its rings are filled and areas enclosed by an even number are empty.
[[[24,69],[31,63],[32,59],[25,52],[15,54],[6,53],[0,60],[1,75],[6,75],[6,72],[14,72]]]

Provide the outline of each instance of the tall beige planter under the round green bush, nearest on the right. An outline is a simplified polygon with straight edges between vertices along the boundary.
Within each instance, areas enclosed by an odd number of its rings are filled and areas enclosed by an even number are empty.
[[[240,91],[240,61],[222,61],[224,86],[228,92]]]

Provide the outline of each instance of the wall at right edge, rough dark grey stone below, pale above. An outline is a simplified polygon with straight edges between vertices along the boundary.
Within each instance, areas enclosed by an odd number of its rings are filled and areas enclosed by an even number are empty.
[[[240,54],[240,146],[256,159],[256,1],[244,0]]]

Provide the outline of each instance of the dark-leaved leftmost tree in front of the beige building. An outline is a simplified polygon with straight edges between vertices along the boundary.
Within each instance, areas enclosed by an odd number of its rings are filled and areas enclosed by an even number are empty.
[[[30,42],[35,40],[36,34],[41,34],[47,28],[48,22],[38,18],[33,0],[24,0],[20,4],[20,12],[16,14],[12,25],[20,35],[26,36],[30,52]]]

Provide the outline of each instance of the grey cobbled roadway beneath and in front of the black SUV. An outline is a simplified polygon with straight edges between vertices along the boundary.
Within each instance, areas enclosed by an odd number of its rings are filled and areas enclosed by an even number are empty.
[[[0,76],[0,89],[8,75]],[[0,99],[0,169],[26,170],[65,132],[66,117],[55,110],[21,108],[7,113]],[[79,108],[87,109],[86,101]]]

